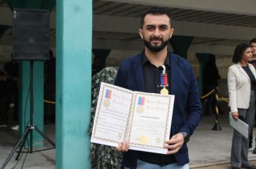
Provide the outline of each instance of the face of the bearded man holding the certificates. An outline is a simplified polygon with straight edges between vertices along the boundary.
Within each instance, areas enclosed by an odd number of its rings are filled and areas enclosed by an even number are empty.
[[[144,40],[147,49],[152,52],[160,52],[169,42],[173,34],[170,19],[166,14],[147,14],[142,29],[139,29],[140,37]]]

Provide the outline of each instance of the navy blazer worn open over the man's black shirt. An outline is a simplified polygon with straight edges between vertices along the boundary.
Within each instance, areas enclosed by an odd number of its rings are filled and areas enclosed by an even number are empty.
[[[141,52],[134,57],[124,59],[116,74],[115,85],[128,90],[145,92],[142,56]],[[178,132],[187,132],[191,136],[202,117],[196,76],[186,59],[171,52],[168,52],[168,57],[170,94],[175,95],[170,137]],[[179,165],[189,163],[186,143],[178,153],[175,153],[175,159]],[[129,150],[124,153],[122,165],[137,168],[137,151]]]

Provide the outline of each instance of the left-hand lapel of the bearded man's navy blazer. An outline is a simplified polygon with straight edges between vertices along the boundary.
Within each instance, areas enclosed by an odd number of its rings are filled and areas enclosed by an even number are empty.
[[[142,53],[138,54],[137,57],[134,57],[132,60],[133,69],[135,72],[138,90],[140,92],[144,92],[144,74],[143,74],[143,67],[142,67]]]

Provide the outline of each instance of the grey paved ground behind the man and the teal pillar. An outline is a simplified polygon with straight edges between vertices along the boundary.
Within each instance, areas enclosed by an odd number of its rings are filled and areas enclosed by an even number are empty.
[[[225,111],[226,109],[224,109]],[[229,166],[230,149],[232,143],[232,127],[229,126],[229,118],[227,113],[219,115],[219,125],[221,131],[211,130],[215,124],[214,116],[204,116],[200,125],[194,132],[191,140],[188,143],[190,168],[209,168],[209,169],[227,169]],[[9,124],[12,126],[13,124]],[[255,128],[256,130],[256,128]],[[45,133],[48,137],[55,140],[55,125],[45,125]],[[256,132],[254,132],[256,135]],[[10,130],[9,127],[0,127],[0,166],[4,163],[13,146],[17,142],[17,132]],[[45,143],[45,147],[50,145]],[[13,158],[9,161],[7,168],[13,168],[17,163],[14,158],[17,153],[14,153]],[[22,155],[16,168],[33,169],[51,169],[55,168],[55,150],[46,150],[40,153],[28,154],[26,160],[25,154]],[[256,165],[256,155],[249,153],[249,159]]]

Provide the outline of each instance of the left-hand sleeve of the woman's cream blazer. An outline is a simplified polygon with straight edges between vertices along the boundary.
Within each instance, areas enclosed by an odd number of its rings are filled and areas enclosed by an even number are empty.
[[[227,72],[227,86],[229,89],[229,106],[231,112],[238,112],[237,110],[237,84],[236,74],[232,67],[229,67]]]

